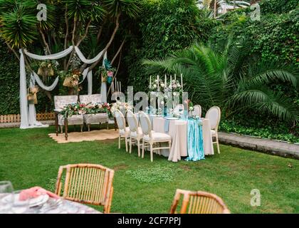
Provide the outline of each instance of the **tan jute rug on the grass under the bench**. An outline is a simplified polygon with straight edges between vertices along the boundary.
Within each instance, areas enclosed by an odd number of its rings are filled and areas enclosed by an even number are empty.
[[[83,142],[83,141],[94,141],[94,140],[112,140],[118,138],[118,130],[110,129],[110,130],[92,130],[81,132],[73,132],[68,133],[68,140],[65,140],[64,133],[58,134],[56,133],[49,134],[50,138],[56,140],[58,143],[67,143],[67,142]]]

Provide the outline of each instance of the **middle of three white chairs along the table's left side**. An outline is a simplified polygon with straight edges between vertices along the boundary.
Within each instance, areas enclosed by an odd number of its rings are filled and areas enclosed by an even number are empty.
[[[143,138],[142,130],[138,127],[138,121],[132,111],[127,110],[127,124],[130,128],[130,153],[132,152],[132,142],[137,142],[138,157],[140,157],[140,141]]]

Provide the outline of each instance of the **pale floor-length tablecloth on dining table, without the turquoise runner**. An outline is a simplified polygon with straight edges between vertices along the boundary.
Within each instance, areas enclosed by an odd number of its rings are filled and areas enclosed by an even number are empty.
[[[202,135],[204,141],[204,155],[214,155],[214,147],[211,137],[211,125],[209,119],[202,120]],[[153,117],[152,130],[158,133],[165,133],[165,119]],[[172,137],[172,149],[163,150],[162,155],[168,157],[168,160],[177,162],[181,156],[188,156],[187,150],[187,120],[169,120],[168,133]]]

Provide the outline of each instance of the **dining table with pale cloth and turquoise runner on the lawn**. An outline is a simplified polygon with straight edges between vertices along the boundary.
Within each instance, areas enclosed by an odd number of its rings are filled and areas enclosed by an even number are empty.
[[[184,111],[180,111],[184,113]],[[166,133],[172,138],[171,150],[159,150],[157,153],[178,162],[184,157],[187,161],[204,160],[206,155],[214,155],[211,124],[208,118],[196,115],[157,115],[147,113],[152,130]],[[136,114],[138,119],[138,113]]]

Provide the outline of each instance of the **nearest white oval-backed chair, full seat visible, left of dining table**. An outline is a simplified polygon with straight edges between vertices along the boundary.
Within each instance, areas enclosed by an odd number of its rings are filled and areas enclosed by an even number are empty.
[[[153,159],[153,150],[171,149],[172,138],[170,135],[165,133],[156,133],[152,130],[152,124],[148,115],[140,111],[140,125],[142,128],[143,139],[142,139],[142,158],[145,157],[145,146],[150,145],[150,161]],[[168,147],[153,147],[154,143],[168,142]]]

